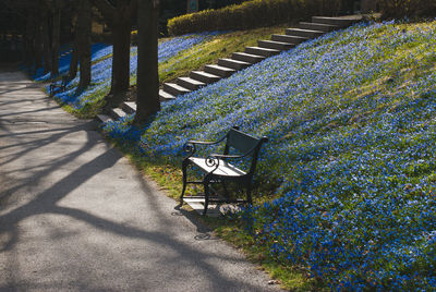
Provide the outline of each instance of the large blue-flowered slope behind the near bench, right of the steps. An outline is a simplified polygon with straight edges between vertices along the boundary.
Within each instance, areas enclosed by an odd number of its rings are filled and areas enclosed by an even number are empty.
[[[239,216],[269,257],[331,289],[436,289],[436,22],[360,24],[105,125],[152,161],[232,125],[269,137]]]

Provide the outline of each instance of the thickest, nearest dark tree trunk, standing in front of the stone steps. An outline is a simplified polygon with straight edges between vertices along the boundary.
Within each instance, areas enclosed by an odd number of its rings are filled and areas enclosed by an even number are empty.
[[[134,124],[160,110],[158,73],[158,1],[140,0],[137,32],[137,93]]]

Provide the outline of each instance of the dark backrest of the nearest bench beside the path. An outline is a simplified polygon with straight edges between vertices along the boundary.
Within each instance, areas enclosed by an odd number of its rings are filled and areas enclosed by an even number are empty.
[[[256,168],[257,156],[261,150],[261,146],[267,141],[267,137],[253,137],[239,131],[238,127],[234,126],[229,131],[229,133],[227,133],[227,141],[223,154],[228,155],[230,148],[234,148],[241,154],[246,154],[247,151],[252,150],[252,153],[250,153],[247,157],[252,157],[252,163],[249,172],[253,173]]]

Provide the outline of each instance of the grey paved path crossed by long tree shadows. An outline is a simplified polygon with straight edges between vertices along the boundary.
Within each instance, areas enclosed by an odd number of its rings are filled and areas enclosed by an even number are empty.
[[[0,72],[0,291],[277,289],[16,72]]]

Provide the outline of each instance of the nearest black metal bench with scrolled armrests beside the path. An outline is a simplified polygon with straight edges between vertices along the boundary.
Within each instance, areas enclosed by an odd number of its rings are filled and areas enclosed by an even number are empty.
[[[237,126],[232,127],[223,137],[216,142],[201,142],[201,141],[189,141],[184,145],[184,150],[189,153],[187,157],[183,159],[182,162],[182,171],[183,171],[183,190],[181,194],[181,203],[184,202],[184,193],[186,190],[186,184],[203,184],[204,186],[204,210],[203,215],[206,215],[207,208],[210,202],[214,203],[249,203],[252,204],[252,180],[254,170],[257,163],[258,153],[261,150],[262,144],[267,142],[267,137],[253,137],[249,134],[245,134]],[[196,145],[198,146],[210,146],[216,145],[221,142],[225,142],[223,154],[211,154],[206,158],[194,157],[193,155],[196,153]],[[237,151],[240,155],[230,155],[230,151]],[[247,170],[242,170],[237,168],[235,166],[229,163],[229,160],[234,159],[247,159],[245,161],[250,167]],[[251,160],[251,161],[250,161]],[[202,181],[187,181],[187,167],[196,167],[202,170],[204,174]],[[227,182],[235,182],[239,185],[245,187],[246,191],[246,199],[230,199],[227,192]],[[226,197],[211,197],[210,188],[211,184],[220,183],[225,188]],[[201,198],[201,197],[196,197]]]

